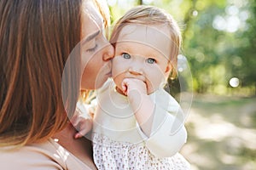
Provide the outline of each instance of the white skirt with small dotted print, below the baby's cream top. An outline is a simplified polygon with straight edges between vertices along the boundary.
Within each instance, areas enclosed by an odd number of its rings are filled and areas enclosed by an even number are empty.
[[[122,143],[93,134],[93,157],[99,170],[189,170],[189,162],[177,153],[157,158],[145,146]]]

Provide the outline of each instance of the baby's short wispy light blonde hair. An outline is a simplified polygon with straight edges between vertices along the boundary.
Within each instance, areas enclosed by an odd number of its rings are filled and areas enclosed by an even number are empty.
[[[147,26],[161,25],[165,24],[170,30],[170,39],[173,42],[170,52],[170,62],[172,65],[171,77],[177,76],[177,54],[181,48],[181,31],[177,26],[177,21],[172,18],[172,15],[167,13],[161,8],[157,8],[149,5],[139,5],[137,7],[131,8],[129,11],[122,16],[113,27],[110,42],[117,42],[119,33],[124,26],[127,24],[140,24]]]

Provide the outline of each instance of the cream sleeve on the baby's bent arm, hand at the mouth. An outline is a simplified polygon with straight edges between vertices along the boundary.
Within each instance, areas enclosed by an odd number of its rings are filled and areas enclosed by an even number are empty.
[[[159,102],[155,104],[151,134],[145,144],[154,156],[170,157],[186,143],[187,131],[184,127],[183,111],[177,101],[172,96],[159,101],[160,105]]]

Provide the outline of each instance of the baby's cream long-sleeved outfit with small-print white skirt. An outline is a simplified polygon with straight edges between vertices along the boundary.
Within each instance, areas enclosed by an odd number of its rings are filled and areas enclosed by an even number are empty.
[[[178,154],[187,139],[183,123],[177,123],[180,106],[163,89],[150,97],[155,113],[148,137],[138,126],[129,101],[115,91],[112,82],[98,91],[91,137],[99,170],[189,169],[188,161]]]

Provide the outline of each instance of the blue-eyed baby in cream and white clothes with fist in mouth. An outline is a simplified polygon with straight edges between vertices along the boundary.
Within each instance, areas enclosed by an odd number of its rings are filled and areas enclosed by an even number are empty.
[[[176,76],[177,22],[152,6],[131,8],[113,28],[112,79],[97,91],[92,141],[98,169],[189,169],[183,111],[164,90]]]

